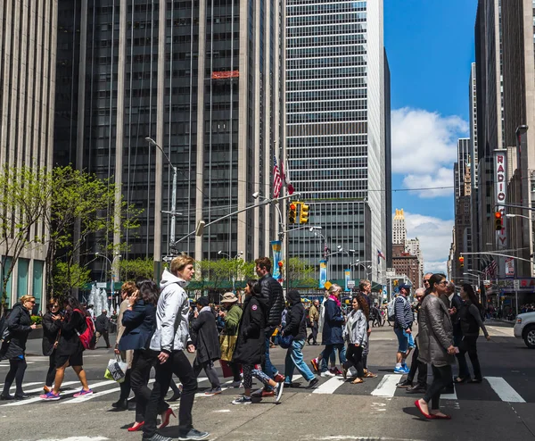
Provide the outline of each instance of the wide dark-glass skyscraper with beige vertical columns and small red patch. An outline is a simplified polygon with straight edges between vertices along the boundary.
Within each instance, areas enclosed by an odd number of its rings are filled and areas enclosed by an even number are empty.
[[[161,261],[176,239],[271,196],[284,129],[282,12],[274,0],[59,1],[55,162],[112,178],[142,208],[136,235],[104,238],[123,258]],[[175,252],[268,255],[275,210],[263,205],[191,235]],[[95,249],[89,244],[89,252]],[[105,262],[103,262],[105,263]]]

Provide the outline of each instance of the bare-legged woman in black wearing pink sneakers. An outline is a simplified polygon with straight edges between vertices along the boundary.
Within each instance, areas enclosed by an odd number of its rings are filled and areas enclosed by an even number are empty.
[[[63,300],[65,308],[65,317],[60,322],[61,334],[58,340],[58,347],[55,354],[55,378],[53,381],[53,390],[44,395],[40,395],[43,400],[54,401],[60,399],[60,387],[62,387],[65,370],[70,366],[78,376],[82,389],[75,397],[92,395],[93,391],[89,388],[86,379],[84,364],[84,346],[80,341],[79,335],[86,330],[86,310],[78,302],[78,299],[69,295]]]

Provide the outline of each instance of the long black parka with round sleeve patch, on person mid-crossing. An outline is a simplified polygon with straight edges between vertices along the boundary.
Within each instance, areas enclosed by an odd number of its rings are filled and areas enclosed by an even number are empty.
[[[266,309],[256,296],[248,295],[243,304],[233,362],[260,364],[266,353]]]

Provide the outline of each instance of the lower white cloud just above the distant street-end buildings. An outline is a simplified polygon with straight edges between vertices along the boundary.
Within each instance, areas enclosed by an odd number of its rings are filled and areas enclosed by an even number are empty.
[[[425,272],[446,272],[454,220],[405,212],[407,237],[418,237]]]

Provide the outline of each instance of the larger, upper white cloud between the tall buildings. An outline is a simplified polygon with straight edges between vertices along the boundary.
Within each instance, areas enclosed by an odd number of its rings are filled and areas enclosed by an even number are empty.
[[[407,188],[452,187],[457,139],[468,135],[459,116],[403,107],[391,114],[392,172]],[[449,196],[452,188],[423,190],[420,197]]]

